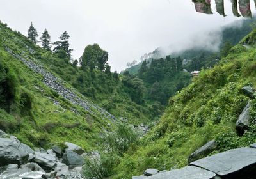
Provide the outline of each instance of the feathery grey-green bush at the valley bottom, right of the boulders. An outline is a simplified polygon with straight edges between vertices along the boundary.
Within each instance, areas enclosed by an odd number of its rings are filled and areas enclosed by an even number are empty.
[[[88,156],[83,167],[86,178],[103,179],[116,175],[115,166],[130,146],[138,144],[139,134],[134,128],[120,123],[113,132],[104,132],[99,139],[102,144],[100,156]]]

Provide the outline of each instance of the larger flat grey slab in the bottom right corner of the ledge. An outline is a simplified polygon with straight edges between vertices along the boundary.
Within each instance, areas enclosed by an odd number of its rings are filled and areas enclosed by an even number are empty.
[[[191,165],[207,169],[224,178],[253,178],[256,175],[256,150],[236,148],[196,160]]]

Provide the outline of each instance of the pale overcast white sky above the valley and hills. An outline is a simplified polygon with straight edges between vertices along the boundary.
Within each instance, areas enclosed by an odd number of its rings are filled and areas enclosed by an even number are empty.
[[[230,0],[225,3],[224,18],[216,14],[213,1],[214,15],[204,15],[195,12],[190,0],[2,0],[0,20],[24,35],[33,21],[38,33],[48,29],[52,41],[68,31],[74,59],[86,45],[99,43],[109,52],[111,70],[120,72],[157,47],[186,47],[238,19]]]

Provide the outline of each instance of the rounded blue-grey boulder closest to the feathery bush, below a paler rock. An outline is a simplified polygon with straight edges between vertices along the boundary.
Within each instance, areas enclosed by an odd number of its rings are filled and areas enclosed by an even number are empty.
[[[67,166],[83,166],[84,159],[81,155],[78,155],[72,150],[66,150],[63,154],[63,163]]]

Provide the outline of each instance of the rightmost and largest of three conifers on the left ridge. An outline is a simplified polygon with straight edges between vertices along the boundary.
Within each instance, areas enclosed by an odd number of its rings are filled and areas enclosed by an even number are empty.
[[[60,40],[54,42],[54,45],[56,45],[56,47],[53,49],[53,51],[56,53],[60,51],[65,51],[68,58],[70,58],[71,52],[73,51],[73,49],[69,49],[69,42],[68,42],[69,38],[70,36],[68,35],[67,31],[61,34]]]

